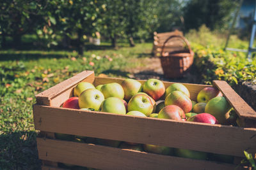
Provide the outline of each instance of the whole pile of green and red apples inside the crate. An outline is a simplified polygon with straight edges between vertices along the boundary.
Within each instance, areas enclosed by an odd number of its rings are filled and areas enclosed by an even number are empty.
[[[205,87],[191,101],[189,90],[181,83],[173,83],[165,89],[160,80],[149,79],[141,85],[140,81],[125,79],[122,83],[107,83],[94,87],[92,83],[81,82],[74,88],[74,97],[70,97],[63,108],[91,111],[104,111],[139,117],[167,118],[179,121],[202,122],[207,124],[233,124],[236,115],[230,104],[218,89]],[[120,141],[100,139],[100,143],[119,146]],[[107,144],[108,145],[108,144]],[[207,159],[204,152],[168,148],[165,146],[125,143],[121,148],[134,148],[152,153]],[[141,145],[140,145],[141,146]]]

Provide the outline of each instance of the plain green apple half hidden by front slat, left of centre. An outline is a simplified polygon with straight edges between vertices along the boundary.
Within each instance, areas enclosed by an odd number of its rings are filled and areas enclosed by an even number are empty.
[[[124,103],[118,97],[108,97],[102,102],[101,111],[125,115]]]

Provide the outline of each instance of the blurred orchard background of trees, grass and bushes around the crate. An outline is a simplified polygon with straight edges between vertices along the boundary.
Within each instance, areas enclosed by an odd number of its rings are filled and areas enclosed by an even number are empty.
[[[168,81],[225,80],[232,87],[250,83],[255,88],[256,58],[223,50],[238,3],[0,1],[0,169],[40,168],[35,94],[84,70],[96,76],[166,80],[159,59],[152,57],[154,31],[180,29],[195,52],[190,73]],[[232,32],[233,48],[248,48],[252,23],[244,20],[247,25]],[[90,37],[100,38],[100,45],[89,43]]]

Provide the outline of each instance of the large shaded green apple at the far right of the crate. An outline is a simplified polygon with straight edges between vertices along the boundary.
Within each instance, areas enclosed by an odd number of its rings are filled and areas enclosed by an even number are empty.
[[[210,113],[220,122],[226,123],[225,114],[231,109],[225,97],[214,97],[205,106],[205,113]]]

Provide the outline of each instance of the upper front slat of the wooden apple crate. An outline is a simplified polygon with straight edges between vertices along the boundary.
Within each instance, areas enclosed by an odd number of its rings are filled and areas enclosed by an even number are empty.
[[[256,129],[34,105],[35,129],[244,157]]]

